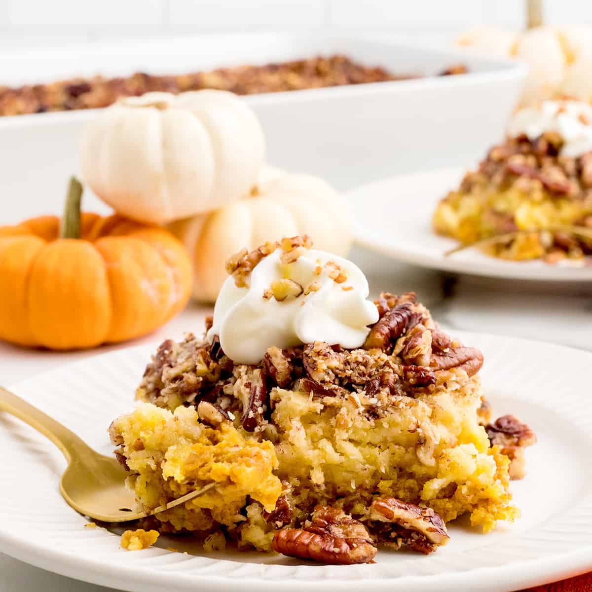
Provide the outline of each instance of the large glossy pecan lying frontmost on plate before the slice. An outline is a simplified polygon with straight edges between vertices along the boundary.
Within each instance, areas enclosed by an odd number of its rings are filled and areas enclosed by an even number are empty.
[[[369,563],[377,554],[366,527],[340,509],[317,506],[303,526],[278,530],[274,551],[332,565]]]

